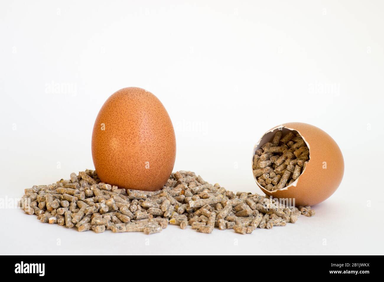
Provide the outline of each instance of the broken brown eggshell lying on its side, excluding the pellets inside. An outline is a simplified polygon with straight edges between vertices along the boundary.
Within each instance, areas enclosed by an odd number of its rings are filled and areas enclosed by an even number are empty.
[[[257,185],[266,195],[273,198],[294,198],[296,206],[313,206],[329,198],[339,187],[344,174],[344,160],[339,146],[318,127],[290,122],[266,132],[253,148],[253,155],[263,144],[271,142],[279,128],[283,128],[283,136],[290,130],[295,134],[299,133],[309,148],[310,159],[295,182],[281,190],[268,191],[256,182]]]

